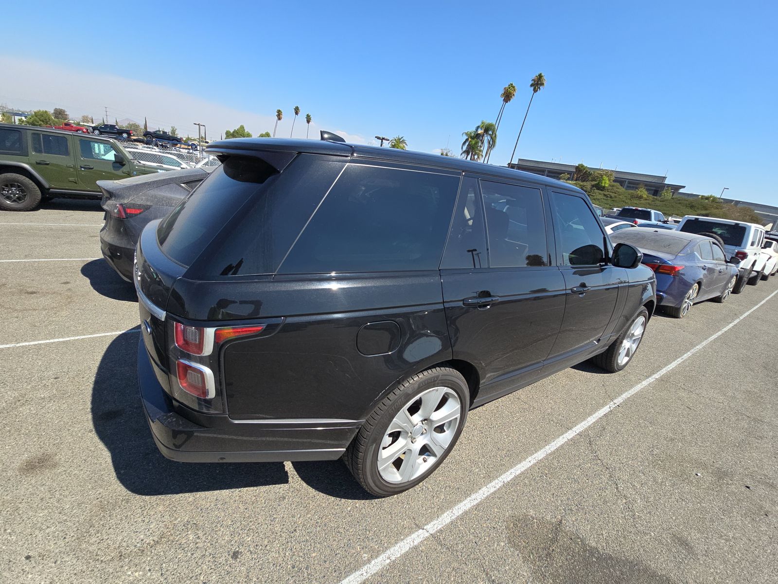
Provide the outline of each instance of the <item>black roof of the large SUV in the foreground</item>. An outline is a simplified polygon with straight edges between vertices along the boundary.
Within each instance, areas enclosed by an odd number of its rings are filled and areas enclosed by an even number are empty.
[[[379,146],[364,146],[347,142],[331,142],[329,140],[279,139],[279,138],[237,138],[211,142],[205,151],[214,153],[243,153],[251,155],[251,151],[275,150],[281,152],[304,152],[314,154],[329,154],[344,157],[362,157],[380,160],[391,160],[409,164],[424,164],[462,172],[489,174],[499,178],[513,178],[532,181],[536,184],[555,188],[565,188],[567,191],[585,194],[580,188],[568,185],[562,181],[543,177],[531,172],[514,171],[512,168],[499,167],[494,164],[484,164],[461,158],[443,157],[440,154],[399,150],[396,148],[380,148]]]

